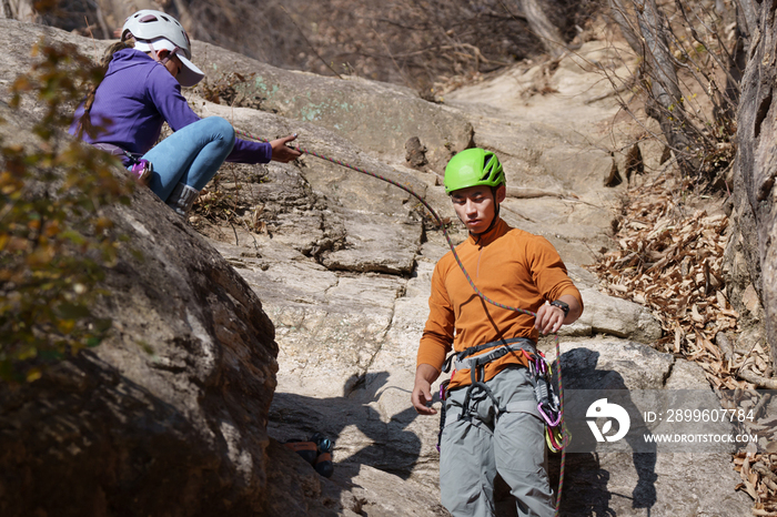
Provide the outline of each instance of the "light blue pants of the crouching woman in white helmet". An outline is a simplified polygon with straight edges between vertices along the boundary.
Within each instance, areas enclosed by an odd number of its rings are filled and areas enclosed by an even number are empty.
[[[175,131],[143,158],[153,165],[149,186],[167,201],[176,184],[202,190],[234,146],[234,129],[221,116],[209,116]]]

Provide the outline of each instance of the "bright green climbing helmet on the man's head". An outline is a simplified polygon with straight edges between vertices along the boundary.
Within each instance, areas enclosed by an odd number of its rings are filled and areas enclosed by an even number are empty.
[[[500,159],[485,149],[466,149],[453,156],[445,168],[446,194],[468,186],[504,184],[505,173]]]

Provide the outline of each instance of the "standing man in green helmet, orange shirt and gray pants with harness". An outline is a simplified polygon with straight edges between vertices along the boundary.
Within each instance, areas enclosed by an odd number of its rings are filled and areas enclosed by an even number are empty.
[[[456,154],[445,168],[445,192],[470,231],[456,252],[474,284],[488,298],[536,313],[536,318],[485,302],[453,253],[435,266],[412,402],[418,414],[436,414],[430,407],[431,385],[453,347],[456,371],[441,437],[442,503],[454,517],[494,515],[498,473],[516,498],[518,515],[552,516],[545,424],[526,366],[536,357],[538,333],[575,322],[583,301],[547,240],[500,219],[505,176],[494,153],[468,149]]]

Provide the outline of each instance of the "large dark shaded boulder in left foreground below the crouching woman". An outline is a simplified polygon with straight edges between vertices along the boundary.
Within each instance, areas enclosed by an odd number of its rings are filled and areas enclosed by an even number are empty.
[[[0,130],[24,140],[24,126]],[[111,217],[130,244],[95,310],[113,318],[110,337],[40,382],[0,386],[0,513],[263,511],[272,322],[149,190]]]

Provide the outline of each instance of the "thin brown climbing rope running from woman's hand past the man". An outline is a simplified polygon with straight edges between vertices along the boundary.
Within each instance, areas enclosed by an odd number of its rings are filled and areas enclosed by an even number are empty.
[[[236,128],[235,128],[234,132],[235,132],[235,134],[238,134],[240,136],[245,136],[245,138],[251,139],[251,140],[269,143],[268,139],[254,136],[253,134],[251,134],[246,131],[239,130]],[[369,176],[385,181],[386,183],[390,183],[398,189],[402,189],[403,191],[407,192],[408,194],[411,194],[413,197],[418,200],[421,202],[421,204],[423,204],[426,207],[426,210],[428,210],[428,212],[432,214],[432,216],[435,219],[435,221],[437,222],[437,224],[442,229],[443,235],[445,235],[445,240],[447,241],[447,244],[451,247],[451,252],[453,253],[453,257],[456,260],[456,264],[458,264],[458,267],[462,270],[462,273],[464,273],[464,276],[466,277],[467,282],[470,283],[470,286],[472,286],[475,294],[477,294],[481,298],[488,302],[490,304],[495,305],[500,308],[504,308],[506,311],[515,311],[515,312],[526,314],[526,315],[535,317],[535,318],[537,317],[537,314],[533,313],[532,311],[526,311],[526,310],[521,308],[521,307],[513,307],[511,305],[505,305],[505,304],[498,303],[494,300],[491,300],[488,296],[483,294],[483,292],[481,292],[480,288],[477,288],[477,286],[475,285],[475,282],[473,282],[472,277],[470,276],[470,273],[467,273],[466,268],[464,267],[464,264],[462,263],[461,258],[458,257],[458,254],[456,253],[456,246],[453,244],[453,240],[451,240],[451,235],[448,235],[447,230],[445,229],[445,223],[440,217],[440,215],[437,215],[437,213],[434,211],[434,209],[426,202],[426,200],[424,200],[418,194],[416,194],[413,191],[413,189],[410,187],[410,185],[402,184],[397,181],[392,180],[391,178],[383,176],[381,174],[367,171],[365,169],[362,169],[362,168],[359,168],[355,165],[351,165],[350,163],[345,163],[345,162],[342,162],[340,160],[335,160],[335,159],[326,156],[324,154],[316,153],[315,151],[311,151],[311,150],[305,149],[301,145],[299,145],[296,148],[292,146],[292,149],[295,149],[296,151],[300,151],[300,152],[305,153],[305,154],[310,154],[310,155],[315,156],[317,159],[325,160],[327,162],[332,162],[336,165],[341,165],[341,166],[344,166],[346,169],[351,169],[352,171],[361,172],[362,174],[366,174]],[[558,509],[561,507],[561,501],[562,501],[562,490],[564,489],[564,470],[566,467],[566,445],[568,443],[568,435],[566,433],[566,426],[564,423],[564,386],[562,384],[561,345],[559,345],[559,341],[558,341],[558,334],[555,335],[555,345],[556,345],[556,361],[558,363],[558,367],[556,368],[556,373],[557,373],[557,377],[558,377],[558,399],[559,399],[558,416],[559,416],[559,420],[561,420],[559,427],[561,427],[562,432],[561,432],[561,436],[558,436],[558,435],[553,436],[554,433],[552,432],[551,433],[552,437],[548,437],[547,440],[548,440],[548,445],[551,443],[554,443],[554,445],[557,448],[561,448],[561,452],[562,452],[561,469],[559,469],[559,474],[558,474],[558,494],[556,495],[556,505],[555,505],[556,516],[558,516]],[[561,438],[561,443],[558,443],[558,438]],[[555,447],[552,447],[552,448],[555,449]]]

